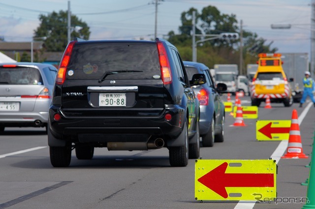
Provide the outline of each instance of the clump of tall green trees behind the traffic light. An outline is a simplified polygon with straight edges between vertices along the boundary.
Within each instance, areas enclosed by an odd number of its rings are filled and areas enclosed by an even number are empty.
[[[181,14],[182,25],[179,27],[180,34],[175,34],[174,31],[168,33],[168,40],[178,48],[183,60],[192,59],[193,11],[196,12],[196,34],[204,32],[206,35],[219,35],[223,32],[240,32],[236,15],[221,14],[217,7],[211,5],[204,7],[201,13],[191,7]],[[200,36],[196,36],[197,40],[200,40]],[[278,49],[271,48],[271,44],[267,44],[266,40],[258,37],[256,33],[243,30],[243,67],[247,64],[256,63],[258,53],[276,52]],[[214,64],[239,64],[239,58],[239,39],[223,40],[217,38],[205,41],[197,46],[197,61],[205,63],[210,68]]]

